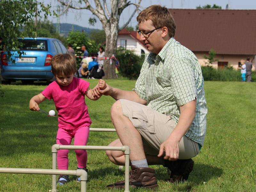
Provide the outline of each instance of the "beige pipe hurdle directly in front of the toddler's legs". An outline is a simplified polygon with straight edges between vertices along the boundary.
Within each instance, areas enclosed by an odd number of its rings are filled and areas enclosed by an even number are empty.
[[[124,192],[130,192],[129,190],[129,163],[130,163],[130,148],[128,146],[114,147],[114,146],[84,146],[84,145],[59,145],[54,144],[52,146],[52,169],[57,169],[57,150],[60,149],[82,149],[82,150],[115,150],[123,151],[125,157],[125,183],[124,183]],[[57,192],[56,189],[56,175],[52,175],[52,191]]]

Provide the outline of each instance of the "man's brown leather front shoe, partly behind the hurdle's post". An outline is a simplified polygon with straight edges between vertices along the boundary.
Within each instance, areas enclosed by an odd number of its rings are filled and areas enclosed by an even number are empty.
[[[129,184],[133,188],[157,188],[155,170],[148,167],[135,167],[131,165]],[[109,188],[124,188],[124,180],[110,184]]]

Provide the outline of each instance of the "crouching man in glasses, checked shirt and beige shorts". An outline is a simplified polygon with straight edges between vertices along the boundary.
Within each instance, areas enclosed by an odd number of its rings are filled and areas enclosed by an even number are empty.
[[[151,53],[145,59],[133,91],[106,84],[93,88],[116,102],[111,119],[119,139],[109,146],[131,148],[130,185],[156,188],[160,164],[170,173],[168,182],[188,180],[206,134],[204,79],[196,56],[173,37],[175,23],[165,7],[152,5],[140,12],[140,40]],[[102,80],[101,80],[102,81]],[[124,153],[106,151],[114,164],[124,165]],[[124,181],[108,185],[124,188]]]

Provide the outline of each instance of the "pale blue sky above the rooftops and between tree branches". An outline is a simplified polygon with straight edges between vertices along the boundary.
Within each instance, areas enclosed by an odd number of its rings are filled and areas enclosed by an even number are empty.
[[[45,4],[51,4],[52,9],[56,11],[57,5],[60,5],[57,0],[39,0],[39,1],[44,1]],[[74,1],[74,0],[73,0]],[[78,0],[76,0],[77,2]],[[138,0],[130,0],[133,3],[138,2]],[[93,0],[89,0],[89,2],[94,5]],[[109,3],[109,0],[107,0]],[[160,4],[162,6],[166,6],[167,8],[183,8],[183,9],[195,9],[196,6],[203,6],[206,4],[216,4],[222,7],[222,9],[226,9],[226,5],[229,4],[230,9],[256,9],[256,0],[142,0],[141,1],[141,8],[140,10],[143,10],[144,8],[153,5],[153,4]],[[85,4],[82,4],[84,6]],[[130,5],[127,8],[124,9],[121,17],[120,17],[120,22],[119,22],[119,27],[121,27],[127,20],[129,19],[129,16],[132,14],[134,11],[135,6]],[[135,13],[133,16],[131,22],[129,23],[128,26],[135,27],[137,25],[136,17],[138,13]],[[60,23],[71,23],[71,24],[76,24],[80,25],[82,27],[88,27],[88,28],[98,28],[102,29],[102,25],[100,21],[97,19],[97,22],[95,26],[90,26],[88,24],[88,19],[90,17],[95,17],[96,16],[92,15],[92,12],[88,10],[74,10],[74,9],[69,9],[66,15],[62,15],[60,17]],[[57,22],[56,18],[49,17],[48,18],[50,21],[53,23]]]

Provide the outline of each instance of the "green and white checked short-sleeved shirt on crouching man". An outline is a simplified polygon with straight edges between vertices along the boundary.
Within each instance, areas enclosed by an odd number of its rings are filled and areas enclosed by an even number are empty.
[[[171,38],[156,55],[145,59],[133,89],[147,106],[171,115],[178,123],[180,106],[196,99],[196,117],[185,134],[203,145],[206,134],[206,100],[200,64],[189,49]]]

